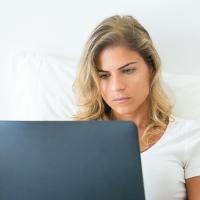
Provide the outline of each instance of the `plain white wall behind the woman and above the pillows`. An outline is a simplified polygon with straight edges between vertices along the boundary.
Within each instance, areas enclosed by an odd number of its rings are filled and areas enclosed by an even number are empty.
[[[166,71],[200,74],[198,0],[0,0],[0,60],[35,50],[78,58],[104,17],[131,14],[150,32]]]

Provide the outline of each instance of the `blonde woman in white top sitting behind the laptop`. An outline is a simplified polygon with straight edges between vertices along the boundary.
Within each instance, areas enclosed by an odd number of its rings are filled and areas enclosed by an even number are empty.
[[[146,199],[200,199],[200,127],[172,116],[160,60],[131,16],[102,21],[89,37],[74,82],[76,120],[129,120],[138,127]]]

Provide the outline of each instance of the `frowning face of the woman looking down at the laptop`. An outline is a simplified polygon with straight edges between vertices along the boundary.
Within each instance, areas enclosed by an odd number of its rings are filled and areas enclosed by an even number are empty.
[[[98,56],[101,95],[116,118],[136,116],[149,103],[150,69],[135,51],[108,47]]]

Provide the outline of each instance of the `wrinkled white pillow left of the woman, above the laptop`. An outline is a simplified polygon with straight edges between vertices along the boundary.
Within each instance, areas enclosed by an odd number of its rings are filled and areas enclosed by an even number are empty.
[[[76,111],[71,89],[76,62],[27,52],[13,60],[16,89],[11,119],[69,120]]]

